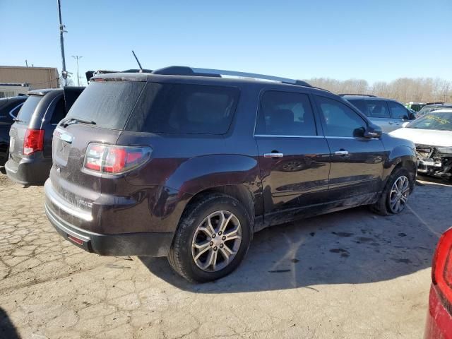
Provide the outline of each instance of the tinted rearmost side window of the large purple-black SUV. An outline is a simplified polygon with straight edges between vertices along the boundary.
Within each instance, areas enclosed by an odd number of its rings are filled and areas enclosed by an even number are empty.
[[[237,88],[148,83],[126,129],[152,133],[224,134],[239,98]]]

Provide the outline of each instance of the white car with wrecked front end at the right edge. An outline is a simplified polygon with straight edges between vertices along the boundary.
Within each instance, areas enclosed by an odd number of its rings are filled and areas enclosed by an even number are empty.
[[[418,173],[452,181],[452,109],[429,112],[389,134],[415,143]]]

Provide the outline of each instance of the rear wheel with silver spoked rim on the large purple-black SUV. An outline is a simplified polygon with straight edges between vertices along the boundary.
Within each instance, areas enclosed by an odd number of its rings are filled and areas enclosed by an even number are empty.
[[[251,241],[249,213],[237,199],[210,194],[184,212],[168,261],[192,282],[204,283],[239,266]]]

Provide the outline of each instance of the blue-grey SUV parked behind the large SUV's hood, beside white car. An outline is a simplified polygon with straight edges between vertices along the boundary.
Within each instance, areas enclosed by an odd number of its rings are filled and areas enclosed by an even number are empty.
[[[396,100],[375,95],[341,94],[340,96],[357,107],[386,133],[400,129],[405,121],[416,119],[410,109]]]

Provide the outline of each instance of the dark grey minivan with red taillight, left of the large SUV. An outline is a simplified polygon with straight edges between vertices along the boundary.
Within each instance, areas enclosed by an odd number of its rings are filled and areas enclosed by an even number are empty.
[[[52,133],[83,87],[32,90],[9,131],[6,174],[23,185],[44,184],[52,167]]]

